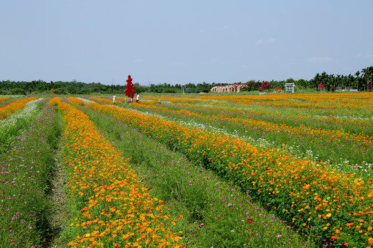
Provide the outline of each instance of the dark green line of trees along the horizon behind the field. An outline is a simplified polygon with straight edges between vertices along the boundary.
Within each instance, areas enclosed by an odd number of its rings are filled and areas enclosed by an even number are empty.
[[[296,89],[318,89],[318,85],[322,84],[323,89],[328,92],[335,91],[338,87],[354,87],[358,91],[372,91],[373,81],[373,66],[364,68],[355,74],[339,75],[327,74],[323,72],[316,74],[314,79],[287,79],[285,81],[254,81],[236,82],[236,83],[187,83],[185,85],[169,83],[140,85],[134,83],[137,93],[154,92],[154,93],[200,93],[210,92],[212,87],[225,86],[232,84],[245,84],[249,87],[242,87],[242,91],[251,91],[260,89],[260,85],[269,86],[269,90],[284,89],[285,83],[295,83]],[[102,83],[82,83],[77,81],[0,81],[0,94],[42,94],[54,92],[55,94],[123,94],[126,89],[125,85],[103,85]]]

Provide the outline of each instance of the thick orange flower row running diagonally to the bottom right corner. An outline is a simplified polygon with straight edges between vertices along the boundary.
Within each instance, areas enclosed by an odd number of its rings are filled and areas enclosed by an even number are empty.
[[[203,161],[228,180],[291,220],[303,231],[327,237],[334,244],[369,247],[373,244],[372,178],[314,161],[289,156],[278,149],[257,149],[235,138],[184,127],[173,121],[89,103],[88,107],[115,116],[128,125]]]

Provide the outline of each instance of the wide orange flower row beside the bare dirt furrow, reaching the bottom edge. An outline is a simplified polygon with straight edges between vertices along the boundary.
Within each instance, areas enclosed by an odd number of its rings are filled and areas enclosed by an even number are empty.
[[[152,198],[115,147],[82,111],[59,103],[64,113],[64,159],[76,218],[70,247],[182,247],[163,201]]]

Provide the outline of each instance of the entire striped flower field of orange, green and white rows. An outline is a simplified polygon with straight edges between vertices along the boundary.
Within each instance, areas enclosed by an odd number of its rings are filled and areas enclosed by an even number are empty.
[[[373,246],[372,93],[158,99],[1,98],[0,247]]]

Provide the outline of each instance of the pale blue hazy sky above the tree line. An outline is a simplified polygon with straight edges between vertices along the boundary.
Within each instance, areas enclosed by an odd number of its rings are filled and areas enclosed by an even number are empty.
[[[0,81],[236,83],[373,65],[372,0],[3,0]]]

